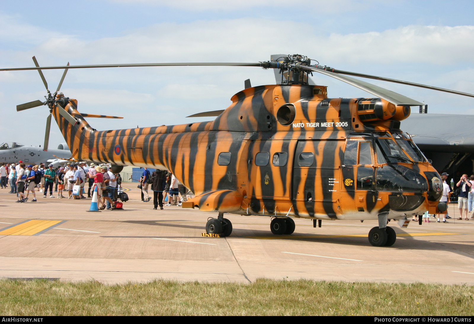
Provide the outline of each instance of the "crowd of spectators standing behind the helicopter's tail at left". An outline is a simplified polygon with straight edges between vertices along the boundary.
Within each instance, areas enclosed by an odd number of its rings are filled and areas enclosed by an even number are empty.
[[[67,163],[64,167],[53,168],[49,164],[46,168],[43,163],[39,165],[18,163],[2,163],[0,167],[0,185],[2,189],[10,188],[9,193],[17,194],[18,203],[28,201],[36,202],[36,193],[43,193],[43,198],[92,198],[94,190],[98,194],[98,208],[112,210],[118,198],[118,189],[121,186],[121,176],[113,173],[106,164],[87,165],[85,162]],[[144,169],[140,178],[139,188],[143,202],[151,200],[148,188],[153,191],[153,209],[163,209],[163,206],[181,206],[187,200],[189,191],[176,177],[163,170],[150,173]],[[8,182],[8,184],[7,184]],[[87,197],[85,185],[88,183]],[[76,191],[74,191],[74,186]],[[55,193],[56,196],[53,195]],[[165,205],[165,203],[167,204]]]

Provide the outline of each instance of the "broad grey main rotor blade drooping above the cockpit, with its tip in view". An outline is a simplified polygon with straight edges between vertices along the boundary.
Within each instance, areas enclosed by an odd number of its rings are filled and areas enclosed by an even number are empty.
[[[337,80],[346,82],[346,83],[348,83],[350,85],[353,85],[353,86],[355,86],[359,89],[362,89],[364,91],[372,93],[373,95],[375,95],[379,98],[382,98],[382,99],[385,99],[389,102],[392,102],[396,106],[399,106],[399,105],[400,106],[421,106],[421,105],[423,105],[419,101],[416,101],[414,99],[405,97],[405,96],[401,95],[400,93],[396,93],[396,92],[384,89],[382,87],[376,86],[372,83],[356,80],[356,79],[349,78],[349,77],[346,77],[346,76],[343,76],[343,75],[340,75],[340,74],[337,74],[337,73],[334,73],[334,72],[320,70],[318,68],[314,68],[314,67],[307,66],[307,65],[296,64],[296,67],[298,67],[300,69],[310,70],[310,71],[313,71],[313,72],[319,72],[321,74],[326,74],[326,75],[328,75],[330,77],[333,77]]]

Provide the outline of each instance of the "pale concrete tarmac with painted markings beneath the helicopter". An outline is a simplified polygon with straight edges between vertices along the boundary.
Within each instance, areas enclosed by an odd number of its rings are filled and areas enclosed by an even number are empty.
[[[474,284],[474,220],[391,222],[397,241],[374,247],[377,221],[295,218],[292,235],[273,235],[270,217],[226,214],[233,232],[202,237],[216,213],[140,200],[124,183],[124,210],[89,213],[91,199],[43,198],[16,203],[0,189],[0,278],[97,280],[114,284],[153,279],[233,281],[258,278]],[[151,193],[151,190],[150,190]],[[55,195],[55,194],[54,194]],[[153,199],[152,199],[153,200]],[[457,208],[456,208],[457,209]]]

